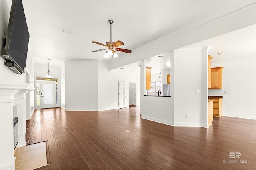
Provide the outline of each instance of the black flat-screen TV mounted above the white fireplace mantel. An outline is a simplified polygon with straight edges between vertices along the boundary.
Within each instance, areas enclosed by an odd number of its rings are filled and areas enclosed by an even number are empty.
[[[17,74],[25,73],[29,33],[22,0],[12,0],[8,30],[2,57],[6,67]]]

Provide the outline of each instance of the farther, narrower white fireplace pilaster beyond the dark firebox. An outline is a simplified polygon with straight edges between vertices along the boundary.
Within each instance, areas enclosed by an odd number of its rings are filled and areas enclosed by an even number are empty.
[[[17,117],[19,129],[18,148],[26,146],[26,93],[27,89],[22,89],[18,93]]]

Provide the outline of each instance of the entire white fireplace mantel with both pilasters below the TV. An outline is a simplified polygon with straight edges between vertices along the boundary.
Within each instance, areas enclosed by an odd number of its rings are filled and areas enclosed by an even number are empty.
[[[26,98],[28,91],[33,91],[28,83],[0,83],[0,170],[14,170],[13,119],[14,107],[18,117],[18,147],[26,145]]]

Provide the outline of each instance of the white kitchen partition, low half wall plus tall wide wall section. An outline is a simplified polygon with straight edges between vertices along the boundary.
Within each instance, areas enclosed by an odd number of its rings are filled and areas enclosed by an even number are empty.
[[[172,126],[207,127],[207,53],[202,48],[175,49],[170,57],[171,97],[142,96],[142,118]]]

